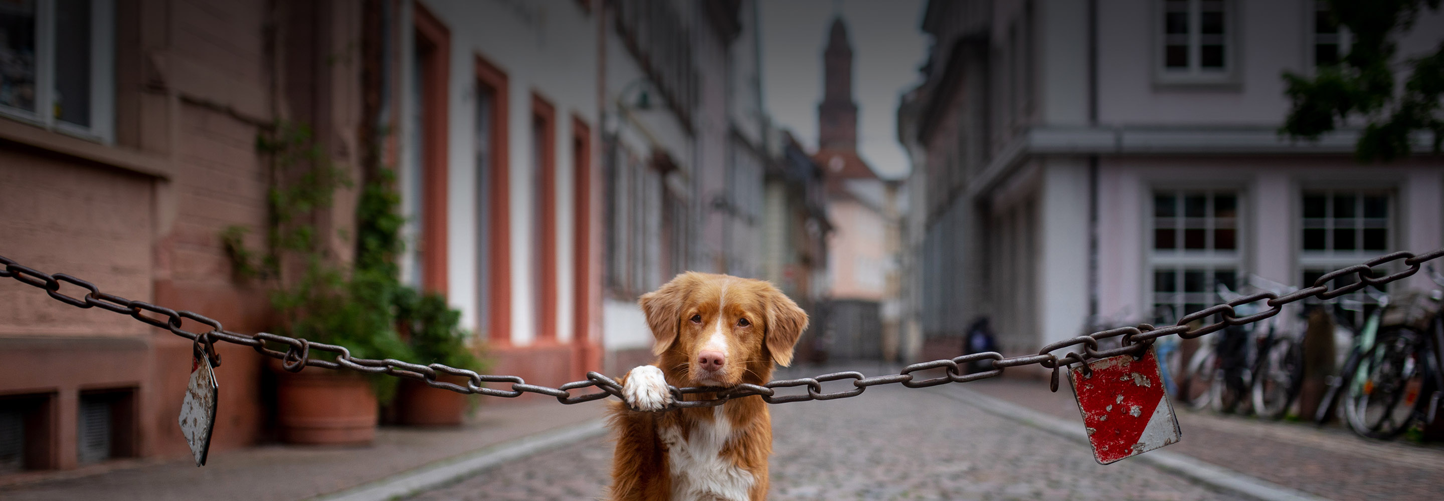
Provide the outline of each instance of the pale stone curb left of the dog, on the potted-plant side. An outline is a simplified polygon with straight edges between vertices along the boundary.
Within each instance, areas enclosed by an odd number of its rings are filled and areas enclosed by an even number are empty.
[[[606,423],[593,419],[582,424],[559,427],[511,442],[491,445],[451,459],[422,465],[383,479],[361,484],[339,492],[323,494],[308,501],[387,501],[451,484],[464,476],[521,459],[537,452],[556,449],[578,440],[606,433]]]

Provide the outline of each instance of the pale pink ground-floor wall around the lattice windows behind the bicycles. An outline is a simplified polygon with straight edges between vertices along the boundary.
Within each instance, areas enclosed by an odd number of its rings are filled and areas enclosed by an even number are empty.
[[[1444,170],[1432,160],[1362,166],[1341,157],[1103,159],[1099,170],[1099,312],[1148,313],[1152,189],[1239,189],[1243,271],[1298,284],[1300,196],[1311,188],[1395,193],[1392,250],[1444,245]],[[1366,253],[1373,256],[1376,253]],[[1431,287],[1424,276],[1412,287]]]

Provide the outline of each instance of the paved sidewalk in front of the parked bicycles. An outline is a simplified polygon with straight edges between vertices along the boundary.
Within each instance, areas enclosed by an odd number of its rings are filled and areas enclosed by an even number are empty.
[[[1082,424],[1067,383],[992,378],[967,390]],[[1180,453],[1330,500],[1437,500],[1444,492],[1444,445],[1365,440],[1337,426],[1262,422],[1174,407]]]

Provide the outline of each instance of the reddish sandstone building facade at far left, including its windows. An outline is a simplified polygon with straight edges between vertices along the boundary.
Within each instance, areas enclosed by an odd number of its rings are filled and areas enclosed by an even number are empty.
[[[0,196],[0,256],[231,331],[267,328],[266,290],[232,276],[219,234],[238,225],[260,244],[256,143],[279,123],[309,123],[319,152],[358,178],[361,19],[347,1],[0,4],[0,182],[29,186]],[[354,211],[355,192],[339,191],[318,231],[349,231]],[[339,237],[326,247],[352,254]],[[6,282],[0,474],[189,453],[176,416],[191,341]],[[217,348],[212,452],[263,437],[269,416],[261,357]]]

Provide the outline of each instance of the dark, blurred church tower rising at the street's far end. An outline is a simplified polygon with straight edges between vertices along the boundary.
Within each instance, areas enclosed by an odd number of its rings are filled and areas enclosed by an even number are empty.
[[[817,105],[817,149],[858,147],[858,104],[852,101],[852,45],[842,17],[833,17],[823,52],[823,100]]]

